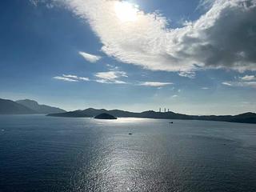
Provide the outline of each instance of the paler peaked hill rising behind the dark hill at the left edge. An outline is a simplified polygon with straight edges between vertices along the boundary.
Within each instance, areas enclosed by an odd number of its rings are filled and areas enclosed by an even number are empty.
[[[38,102],[30,99],[18,100],[16,102],[36,111],[38,114],[58,114],[66,112],[66,110],[62,110],[58,107],[39,105]]]

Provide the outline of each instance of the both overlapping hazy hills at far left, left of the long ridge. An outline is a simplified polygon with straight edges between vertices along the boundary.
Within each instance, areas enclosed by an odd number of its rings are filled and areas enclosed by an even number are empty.
[[[65,112],[66,110],[57,107],[39,105],[38,102],[29,99],[14,102],[0,98],[0,114],[55,114]]]

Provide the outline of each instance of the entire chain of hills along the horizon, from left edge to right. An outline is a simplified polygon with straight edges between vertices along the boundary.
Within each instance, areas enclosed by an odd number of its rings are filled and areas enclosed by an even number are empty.
[[[134,113],[125,110],[97,110],[88,108],[86,110],[74,110],[66,112],[53,106],[40,105],[33,100],[24,99],[16,102],[0,98],[0,114],[47,114],[52,117],[66,118],[93,118],[98,114],[110,114],[118,118],[162,118],[162,119],[187,119],[187,120],[205,120],[220,122],[244,122],[256,123],[256,114],[245,113],[238,115],[187,115],[174,112],[155,112],[154,110]]]

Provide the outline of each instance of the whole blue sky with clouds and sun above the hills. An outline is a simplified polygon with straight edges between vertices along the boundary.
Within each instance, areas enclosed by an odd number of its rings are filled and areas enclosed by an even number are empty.
[[[0,98],[256,112],[255,0],[2,0]]]

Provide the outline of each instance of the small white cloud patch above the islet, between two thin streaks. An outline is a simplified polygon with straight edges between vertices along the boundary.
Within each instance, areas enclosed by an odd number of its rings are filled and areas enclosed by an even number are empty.
[[[118,78],[127,78],[127,74],[124,71],[110,70],[107,72],[98,72],[94,74],[98,79],[96,82],[101,83],[116,83],[116,84],[125,84],[126,82],[118,80]]]

